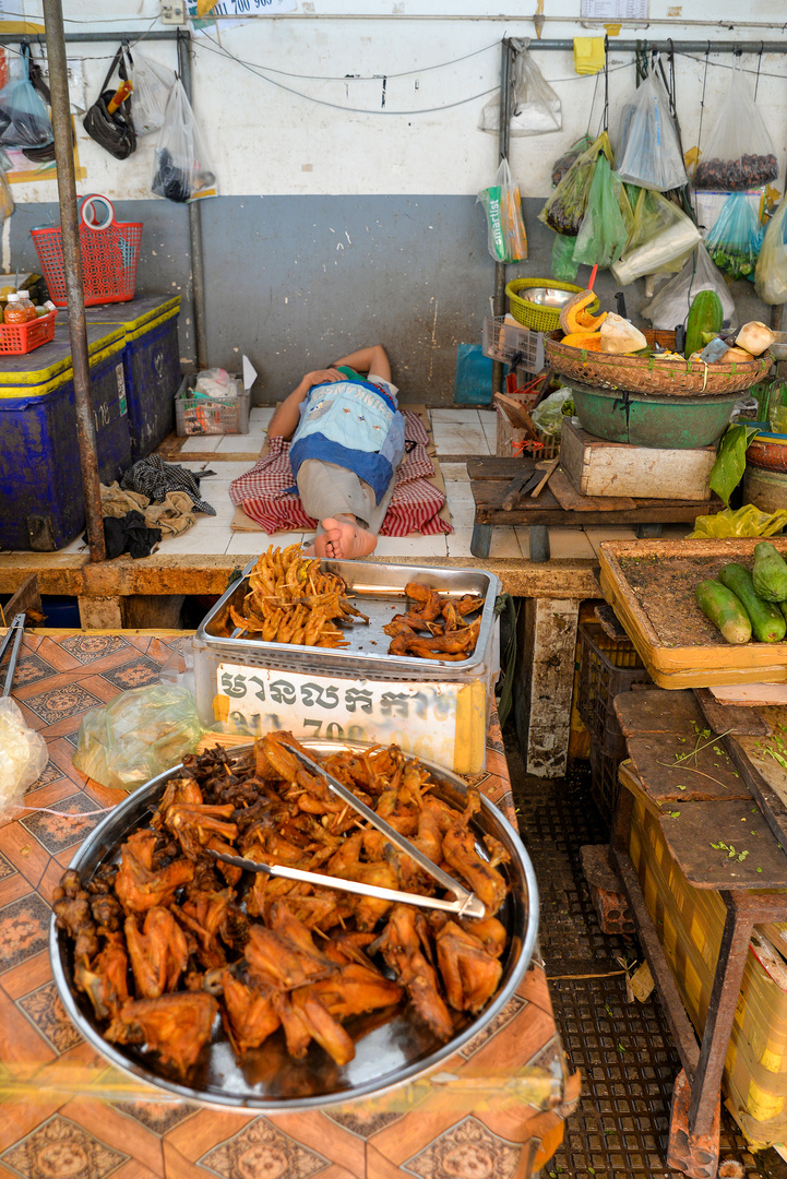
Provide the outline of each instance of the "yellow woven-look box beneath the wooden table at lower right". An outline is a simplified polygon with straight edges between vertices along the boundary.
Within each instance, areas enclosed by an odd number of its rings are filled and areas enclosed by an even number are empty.
[[[656,806],[629,762],[621,786],[634,795],[629,855],[686,1010],[702,1035],[727,908],[715,889],[694,888],[673,859]],[[755,927],[725,1061],[727,1107],[755,1147],[787,1138],[787,922]]]

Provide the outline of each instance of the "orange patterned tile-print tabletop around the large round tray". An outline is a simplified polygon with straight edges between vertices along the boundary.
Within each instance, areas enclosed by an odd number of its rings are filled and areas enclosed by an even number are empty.
[[[156,683],[181,643],[25,637],[13,694],[49,752],[28,806],[82,812],[125,797],[73,768],[81,717]],[[514,817],[496,718],[475,780]],[[495,1022],[443,1062],[454,1086],[264,1117],[178,1101],[110,1067],[66,1015],[47,950],[53,889],[98,822],[38,811],[0,828],[0,1179],[523,1179],[551,1157],[578,1076],[567,1075],[540,961]]]

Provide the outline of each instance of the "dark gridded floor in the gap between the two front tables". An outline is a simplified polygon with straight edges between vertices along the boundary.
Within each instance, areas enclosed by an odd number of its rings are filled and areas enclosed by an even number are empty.
[[[627,1003],[617,957],[642,960],[636,941],[601,933],[582,875],[580,848],[609,832],[590,797],[590,773],[545,779],[524,772],[509,726],[504,733],[522,837],[541,891],[541,953],[557,1026],[582,1098],[563,1145],[542,1179],[683,1179],[664,1167],[669,1105],[680,1059],[654,992]],[[588,763],[577,763],[580,768]],[[720,1162],[739,1179],[787,1179],[775,1151],[756,1157],[722,1108]]]

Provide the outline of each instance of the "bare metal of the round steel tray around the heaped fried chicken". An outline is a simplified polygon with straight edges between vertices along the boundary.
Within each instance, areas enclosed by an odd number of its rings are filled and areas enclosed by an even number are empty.
[[[358,742],[304,740],[303,744],[315,753],[366,747]],[[249,746],[236,746],[231,752],[239,752],[245,747]],[[438,784],[436,796],[454,806],[463,808],[467,791],[464,782],[434,763],[422,764],[430,770],[432,780]],[[120,844],[133,831],[148,825],[167,780],[180,769],[180,765],[173,766],[140,786],[119,803],[88,836],[70,864],[85,883],[100,864],[119,859]],[[191,1074],[191,1084],[179,1084],[159,1075],[150,1058],[139,1049],[108,1043],[104,1039],[87,996],[73,988],[73,944],[57,928],[53,916],[49,957],[60,999],[81,1035],[110,1063],[184,1100],[217,1107],[285,1113],[383,1093],[434,1068],[490,1023],[511,999],[530,963],[538,931],[538,889],[530,857],[514,829],[483,796],[482,810],[474,817],[472,828],[478,837],[489,834],[500,839],[511,857],[509,864],[501,865],[501,871],[507,875],[509,891],[498,914],[508,929],[509,942],[502,959],[503,975],[496,996],[480,1015],[468,1015],[448,1043],[441,1043],[424,1025],[415,1022],[404,1008],[389,1023],[362,1035],[356,1042],[355,1059],[343,1068],[315,1045],[304,1060],[292,1060],[286,1054],[280,1029],[238,1063],[221,1022],[217,1019],[212,1043],[203,1049]],[[478,844],[478,850],[487,855],[482,844]],[[352,1021],[348,1021],[346,1026],[352,1034]]]

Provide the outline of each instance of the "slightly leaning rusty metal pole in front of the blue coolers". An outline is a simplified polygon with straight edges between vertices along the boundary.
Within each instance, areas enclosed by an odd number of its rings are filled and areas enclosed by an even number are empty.
[[[95,452],[93,406],[91,402],[91,369],[85,323],[82,259],[79,251],[77,180],[74,177],[74,156],[71,143],[71,105],[68,101],[68,70],[66,66],[61,0],[44,0],[44,27],[46,33],[46,52],[49,60],[54,158],[58,167],[58,198],[60,202],[62,258],[66,272],[68,335],[71,337],[71,355],[74,368],[77,437],[79,440],[79,459],[82,468],[87,540],[91,549],[91,560],[102,561],[106,558],[106,549],[104,547],[101,489],[98,473],[98,455]],[[64,487],[62,494],[71,494],[70,488]]]

